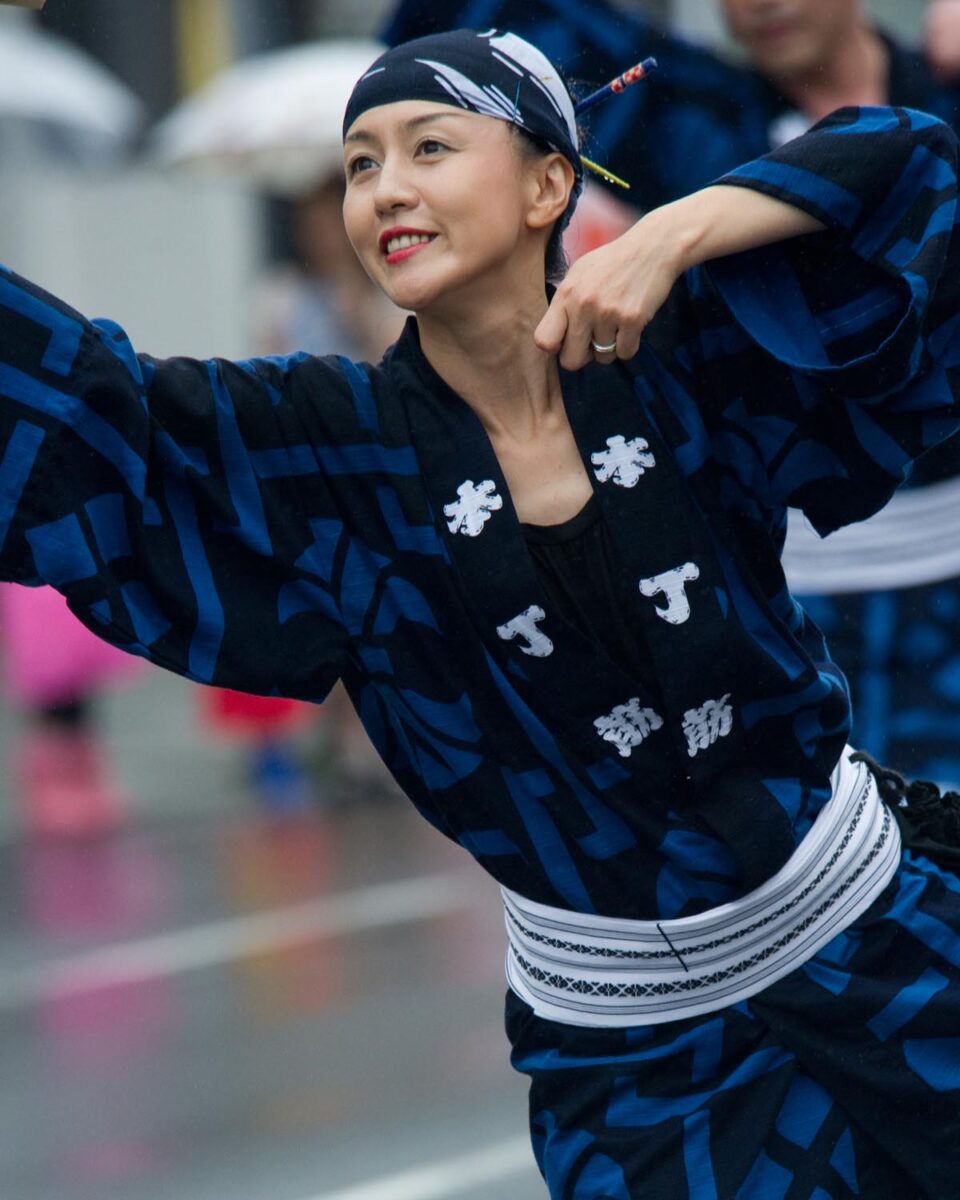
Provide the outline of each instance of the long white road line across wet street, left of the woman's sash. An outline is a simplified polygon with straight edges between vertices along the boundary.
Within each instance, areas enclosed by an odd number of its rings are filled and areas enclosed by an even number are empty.
[[[473,872],[455,871],[380,883],[11,971],[0,976],[0,1012],[217,966],[318,938],[430,920],[475,906],[482,896],[480,882]]]

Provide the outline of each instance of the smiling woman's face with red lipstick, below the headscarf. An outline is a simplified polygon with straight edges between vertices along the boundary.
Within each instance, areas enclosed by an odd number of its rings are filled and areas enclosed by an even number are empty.
[[[533,167],[505,121],[383,104],[347,132],[343,163],[347,236],[401,308],[424,312],[463,289],[482,299],[538,248],[542,272],[542,239],[527,223]]]

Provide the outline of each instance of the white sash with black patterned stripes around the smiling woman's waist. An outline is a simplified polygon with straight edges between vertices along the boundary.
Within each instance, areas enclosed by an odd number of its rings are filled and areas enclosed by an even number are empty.
[[[900,862],[896,821],[874,775],[848,754],[790,860],[732,904],[674,920],[620,920],[503,888],[512,990],[538,1016],[565,1025],[659,1025],[736,1004],[802,966],[863,916]]]

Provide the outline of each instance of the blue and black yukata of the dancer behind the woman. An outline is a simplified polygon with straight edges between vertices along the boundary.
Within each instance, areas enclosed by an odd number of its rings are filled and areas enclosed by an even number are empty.
[[[665,32],[636,11],[614,10],[606,0],[402,0],[384,37],[396,44],[440,29],[488,25],[532,41],[582,91],[647,55],[656,58],[650,83],[584,118],[587,152],[630,181],[628,198],[641,209],[706,186],[809,124],[761,72]],[[887,102],[932,113],[960,132],[960,88],[936,79],[922,54],[882,37]],[[943,480],[955,480],[960,491],[960,439],[926,455],[913,468],[910,486]],[[936,532],[920,536],[936,538]],[[830,548],[828,544],[824,552]],[[808,596],[802,599],[806,602]],[[854,742],[908,775],[960,785],[955,564],[919,586],[901,581],[884,590],[859,586],[844,592],[817,587],[809,599],[830,654],[847,677]]]

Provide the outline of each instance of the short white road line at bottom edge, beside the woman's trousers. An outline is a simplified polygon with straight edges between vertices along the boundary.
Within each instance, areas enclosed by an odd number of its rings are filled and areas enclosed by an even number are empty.
[[[341,1192],[324,1192],[310,1200],[445,1200],[535,1170],[529,1139],[511,1138],[470,1154],[385,1175]]]

